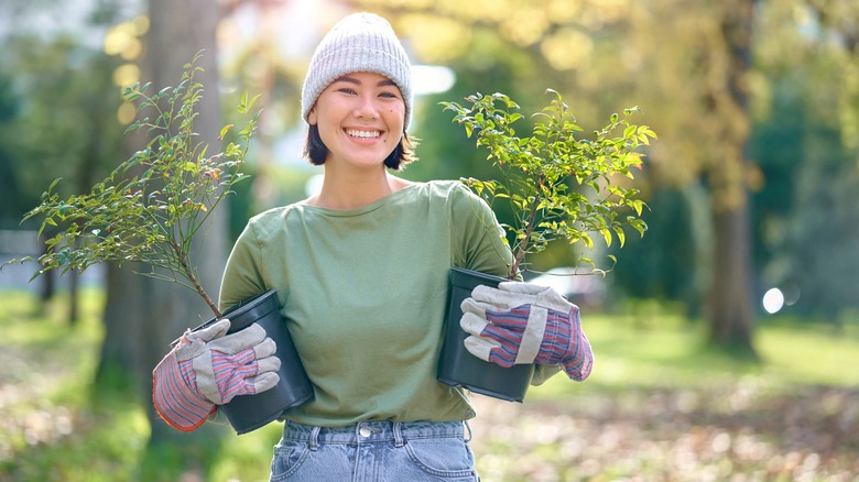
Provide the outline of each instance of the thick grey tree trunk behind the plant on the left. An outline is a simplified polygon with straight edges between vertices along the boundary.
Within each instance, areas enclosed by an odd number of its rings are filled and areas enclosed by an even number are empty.
[[[221,127],[218,98],[218,73],[215,30],[219,10],[209,1],[150,0],[150,30],[145,40],[145,58],[141,66],[141,81],[151,81],[154,91],[174,87],[181,81],[183,66],[194,55],[204,51],[198,66],[204,72],[196,74],[196,80],[204,85],[203,99],[196,109],[194,131],[198,141],[211,143],[217,149],[216,138]],[[140,142],[135,136],[129,143]],[[139,149],[129,146],[129,152]],[[221,205],[210,217],[206,243],[195,240],[193,261],[199,267],[202,284],[210,296],[217,296],[220,276],[227,258],[227,205]],[[170,342],[189,327],[213,317],[199,296],[178,285],[134,274],[149,272],[149,266],[123,265],[121,270],[111,265],[108,270],[107,306],[105,310],[106,337],[101,350],[99,377],[105,380],[111,372],[121,373],[144,394],[144,404],[152,425],[151,443],[173,439],[178,434],[156,415],[152,407],[152,370],[170,350]],[[117,370],[115,370],[115,368]],[[209,430],[198,432],[210,437]],[[196,439],[196,437],[195,437]],[[188,442],[188,436],[183,440]]]

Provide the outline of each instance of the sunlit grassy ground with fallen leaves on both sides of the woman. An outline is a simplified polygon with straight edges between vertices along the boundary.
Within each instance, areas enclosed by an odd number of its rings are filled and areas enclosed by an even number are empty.
[[[0,292],[0,481],[267,480],[278,424],[225,428],[211,463],[188,468],[146,450],[139,401],[94,402],[100,304],[88,292],[69,328],[62,297]],[[763,318],[754,362],[660,307],[584,324],[590,380],[556,376],[524,404],[474,397],[483,481],[859,481],[859,326]]]

